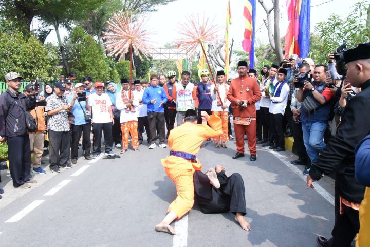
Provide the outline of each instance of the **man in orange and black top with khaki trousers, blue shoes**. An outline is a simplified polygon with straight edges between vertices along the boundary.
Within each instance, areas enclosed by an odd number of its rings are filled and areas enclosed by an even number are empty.
[[[36,81],[34,80],[34,83]],[[36,85],[34,94],[39,93],[39,84]],[[29,83],[24,88],[24,94],[26,96],[30,95],[32,90],[32,84]],[[45,104],[43,104],[45,103]],[[32,173],[46,174],[45,170],[41,168],[41,157],[43,154],[44,140],[46,139],[46,122],[45,122],[45,97],[39,96],[38,101],[36,101],[36,108],[30,111],[32,117],[36,120],[37,130],[35,132],[28,132],[30,138],[31,152],[33,152],[33,169]]]

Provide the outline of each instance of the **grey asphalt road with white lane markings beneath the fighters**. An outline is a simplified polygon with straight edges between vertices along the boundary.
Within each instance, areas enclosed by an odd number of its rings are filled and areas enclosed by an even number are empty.
[[[243,176],[252,231],[243,231],[231,213],[206,215],[195,205],[174,223],[179,235],[155,232],[176,197],[160,163],[169,148],[139,148],[114,160],[80,158],[60,174],[36,175],[38,184],[27,190],[2,182],[1,246],[311,247],[318,235],[330,237],[334,182],[325,178],[315,191],[306,189],[303,167],[289,165],[296,158],[289,152],[276,156],[258,147],[256,162],[249,155],[233,160],[234,140],[227,149],[206,142],[198,157],[204,170],[221,164],[227,174]]]

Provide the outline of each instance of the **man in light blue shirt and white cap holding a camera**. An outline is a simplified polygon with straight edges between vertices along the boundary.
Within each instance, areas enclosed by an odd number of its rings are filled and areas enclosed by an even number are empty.
[[[86,121],[85,114],[89,108],[88,96],[85,93],[86,85],[77,83],[75,86],[76,94],[69,98],[72,107],[72,114],[75,116],[72,124],[72,142],[71,142],[71,158],[72,163],[77,163],[78,158],[78,145],[82,136],[82,147],[85,151],[85,159],[91,160],[91,121]],[[77,102],[76,102],[77,100]]]

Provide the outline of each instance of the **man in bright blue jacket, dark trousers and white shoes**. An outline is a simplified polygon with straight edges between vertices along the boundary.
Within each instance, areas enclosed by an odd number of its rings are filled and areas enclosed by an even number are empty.
[[[142,97],[142,102],[147,104],[148,108],[149,132],[151,136],[149,149],[157,147],[155,144],[157,128],[159,130],[159,146],[165,148],[167,145],[165,144],[163,104],[167,102],[167,94],[162,87],[158,86],[158,75],[152,74],[150,83],[151,85],[145,89]]]

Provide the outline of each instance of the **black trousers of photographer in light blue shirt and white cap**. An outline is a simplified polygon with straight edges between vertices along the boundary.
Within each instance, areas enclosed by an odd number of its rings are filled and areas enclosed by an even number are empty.
[[[77,159],[78,157],[78,144],[82,136],[82,148],[85,151],[85,157],[91,155],[91,124],[73,125],[72,127],[72,144],[71,144],[71,157]]]

